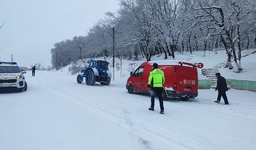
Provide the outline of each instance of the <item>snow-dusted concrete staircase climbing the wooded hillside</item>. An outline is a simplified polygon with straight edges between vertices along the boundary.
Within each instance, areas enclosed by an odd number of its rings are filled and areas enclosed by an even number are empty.
[[[251,54],[254,54],[255,52],[256,52],[256,49],[243,50],[242,54],[241,54],[241,58],[246,57]],[[231,60],[231,62],[233,62],[233,60]],[[208,79],[212,79],[212,85],[211,85],[212,88],[216,88],[216,86],[217,86],[217,78],[216,78],[215,74],[217,72],[219,72],[218,68],[224,67],[225,63],[226,63],[226,61],[223,61],[219,64],[216,64],[211,69],[202,69],[202,74],[204,76],[206,76]]]

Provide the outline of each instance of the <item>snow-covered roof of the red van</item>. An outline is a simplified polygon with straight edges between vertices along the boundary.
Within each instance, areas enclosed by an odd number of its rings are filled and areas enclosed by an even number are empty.
[[[187,67],[193,67],[193,64],[194,64],[192,62],[181,61],[181,60],[159,60],[159,61],[146,61],[146,62],[143,62],[141,66],[152,66],[154,63],[157,63],[158,65],[181,65],[182,63]]]

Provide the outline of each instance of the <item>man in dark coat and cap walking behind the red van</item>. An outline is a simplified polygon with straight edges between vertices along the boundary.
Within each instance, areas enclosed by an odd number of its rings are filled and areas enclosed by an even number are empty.
[[[220,76],[220,73],[216,73],[215,75],[218,78],[217,79],[217,87],[215,88],[215,91],[218,90],[219,94],[218,94],[217,101],[214,101],[214,102],[220,104],[220,98],[222,96],[222,98],[225,101],[224,105],[228,105],[229,102],[228,102],[228,98],[226,96],[226,91],[228,91],[228,86],[226,83],[226,79],[223,76]]]

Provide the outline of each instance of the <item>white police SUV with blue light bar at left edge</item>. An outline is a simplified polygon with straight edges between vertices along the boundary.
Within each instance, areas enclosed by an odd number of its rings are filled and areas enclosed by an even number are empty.
[[[27,83],[23,73],[16,62],[0,62],[0,92],[26,91]]]

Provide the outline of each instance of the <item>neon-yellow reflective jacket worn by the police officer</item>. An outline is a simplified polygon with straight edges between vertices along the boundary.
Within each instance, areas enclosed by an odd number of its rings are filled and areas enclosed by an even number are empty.
[[[148,88],[150,88],[151,82],[153,87],[163,87],[164,84],[164,72],[160,69],[153,69],[149,72]]]

